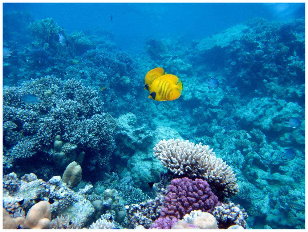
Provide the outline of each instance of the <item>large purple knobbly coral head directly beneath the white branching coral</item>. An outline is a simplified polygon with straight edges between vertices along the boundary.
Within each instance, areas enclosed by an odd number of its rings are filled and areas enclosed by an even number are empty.
[[[164,198],[160,216],[162,218],[175,216],[182,219],[192,210],[212,213],[214,207],[220,204],[205,180],[177,178],[173,179],[168,186],[168,194]]]

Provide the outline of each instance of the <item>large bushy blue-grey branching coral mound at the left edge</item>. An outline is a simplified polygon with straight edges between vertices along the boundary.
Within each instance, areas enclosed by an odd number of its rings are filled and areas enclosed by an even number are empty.
[[[48,91],[52,94],[44,94]],[[29,93],[39,96],[43,102],[33,105],[23,102],[22,96]],[[85,158],[90,170],[109,167],[108,160],[115,149],[113,136],[117,121],[110,114],[103,113],[103,102],[99,101],[97,92],[80,81],[71,79],[63,82],[47,76],[23,82],[18,87],[6,86],[3,105],[7,112],[12,112],[4,116],[5,133],[10,135],[4,142],[4,156],[16,160],[43,152],[45,155],[40,157],[48,157],[47,153],[52,145],[54,147],[54,138],[58,134],[62,136],[61,151],[65,153],[56,154],[58,167],[64,168],[73,161],[80,162],[80,156],[75,155],[74,158],[71,150],[65,150],[66,142],[78,146],[75,153],[94,153]],[[20,126],[15,127],[15,124]],[[83,133],[83,130],[88,132]]]

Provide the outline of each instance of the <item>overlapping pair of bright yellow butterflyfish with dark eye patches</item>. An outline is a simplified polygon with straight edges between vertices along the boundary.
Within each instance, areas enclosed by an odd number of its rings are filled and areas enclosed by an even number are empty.
[[[183,91],[182,81],[176,75],[164,74],[164,69],[160,67],[148,71],[144,82],[144,89],[150,91],[148,98],[156,101],[173,101]]]

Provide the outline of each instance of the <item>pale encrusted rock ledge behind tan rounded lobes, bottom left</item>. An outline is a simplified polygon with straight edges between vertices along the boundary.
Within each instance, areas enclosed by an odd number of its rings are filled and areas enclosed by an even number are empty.
[[[10,214],[21,209],[27,212],[37,198],[47,201],[52,199],[50,209],[54,218],[59,215],[68,216],[81,226],[86,225],[94,214],[93,206],[86,200],[85,195],[69,189],[59,176],[48,182],[37,179],[35,174],[25,175],[21,179],[14,173],[3,179],[3,204]],[[12,183],[14,188],[10,187]]]

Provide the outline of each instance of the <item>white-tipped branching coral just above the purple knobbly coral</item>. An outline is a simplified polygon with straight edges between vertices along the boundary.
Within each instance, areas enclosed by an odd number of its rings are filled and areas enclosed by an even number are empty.
[[[194,144],[189,140],[160,140],[154,149],[156,159],[177,175],[203,177],[217,196],[230,197],[236,194],[236,174],[230,166],[217,158],[209,146]]]

